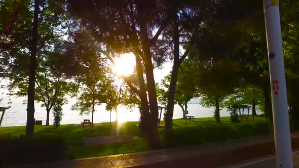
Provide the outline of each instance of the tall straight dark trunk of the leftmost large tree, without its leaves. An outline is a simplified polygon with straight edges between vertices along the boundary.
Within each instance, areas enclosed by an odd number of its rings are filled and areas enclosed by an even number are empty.
[[[33,137],[34,129],[34,81],[36,70],[36,51],[38,48],[38,26],[39,26],[39,7],[40,1],[34,2],[33,26],[32,26],[32,39],[31,39],[31,57],[29,64],[29,83],[28,83],[28,100],[27,100],[27,123],[26,123],[26,137]]]

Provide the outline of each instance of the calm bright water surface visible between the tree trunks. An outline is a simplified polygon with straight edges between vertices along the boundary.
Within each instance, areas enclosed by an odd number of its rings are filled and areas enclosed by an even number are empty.
[[[80,123],[85,118],[91,119],[91,114],[89,115],[80,115],[79,111],[73,111],[71,109],[71,103],[63,106],[63,116],[61,124],[69,124],[69,123]],[[8,126],[18,126],[18,125],[26,125],[26,104],[22,104],[21,102],[15,102],[12,104],[0,103],[0,107],[11,106],[10,109],[6,110],[1,127]],[[199,104],[189,104],[188,105],[189,115],[194,115],[196,118],[198,117],[212,117],[213,116],[213,108],[203,108]],[[260,114],[260,111],[256,111],[257,114]],[[244,112],[245,113],[245,112]],[[247,113],[247,110],[246,110]],[[251,109],[249,111],[251,114]],[[35,119],[43,120],[43,124],[46,123],[46,109],[41,107],[40,103],[35,103]],[[160,112],[159,112],[160,114]],[[162,119],[163,119],[164,110],[162,110]],[[140,113],[137,108],[134,109],[126,109],[125,107],[121,107],[119,110],[120,118],[124,121],[138,121],[140,117]],[[222,109],[220,111],[220,116],[229,116],[229,112],[226,109]],[[174,114],[173,118],[182,118],[182,110],[178,105],[174,106]],[[116,119],[115,112],[111,112],[111,121]],[[96,107],[96,112],[94,113],[94,122],[109,122],[110,121],[110,111],[105,110],[105,105],[100,105]],[[50,113],[50,124],[53,123],[53,114]]]

